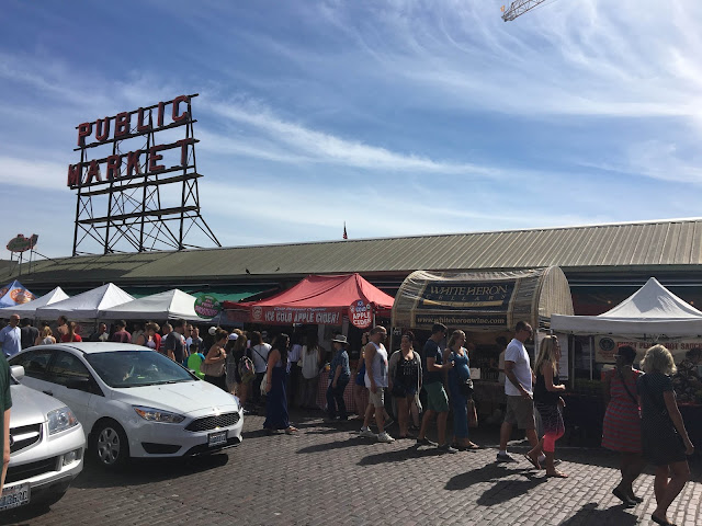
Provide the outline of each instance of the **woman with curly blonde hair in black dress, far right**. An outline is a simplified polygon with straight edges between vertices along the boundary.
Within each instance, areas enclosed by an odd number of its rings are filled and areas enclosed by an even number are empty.
[[[676,365],[663,345],[648,351],[641,367],[645,375],[636,380],[641,398],[642,438],[644,456],[656,466],[654,492],[658,504],[650,518],[658,524],[672,524],[666,516],[668,507],[690,478],[686,455],[694,447],[684,428],[672,390],[670,375]]]

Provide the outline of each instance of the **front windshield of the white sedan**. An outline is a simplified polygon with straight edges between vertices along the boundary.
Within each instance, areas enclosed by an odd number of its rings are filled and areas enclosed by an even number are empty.
[[[193,381],[185,368],[154,351],[115,351],[86,356],[110,387],[141,387]]]

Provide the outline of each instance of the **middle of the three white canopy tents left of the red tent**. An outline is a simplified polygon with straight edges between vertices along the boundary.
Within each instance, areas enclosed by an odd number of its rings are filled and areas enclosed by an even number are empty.
[[[66,316],[71,320],[94,320],[100,311],[116,305],[132,301],[134,296],[125,293],[113,283],[107,283],[92,290],[57,301],[36,309],[36,318],[48,320],[58,316]]]

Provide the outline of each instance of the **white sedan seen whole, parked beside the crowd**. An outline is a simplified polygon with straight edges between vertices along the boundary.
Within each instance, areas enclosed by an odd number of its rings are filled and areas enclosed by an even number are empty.
[[[105,468],[131,457],[181,457],[241,443],[238,398],[148,347],[80,342],[30,347],[10,359],[23,384],[56,397],[83,425]]]

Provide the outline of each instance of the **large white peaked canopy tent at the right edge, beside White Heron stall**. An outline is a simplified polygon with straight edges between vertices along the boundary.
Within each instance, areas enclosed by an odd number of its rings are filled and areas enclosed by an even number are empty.
[[[657,339],[702,335],[702,312],[680,299],[655,277],[600,316],[551,317],[551,329],[567,334],[612,334]]]

